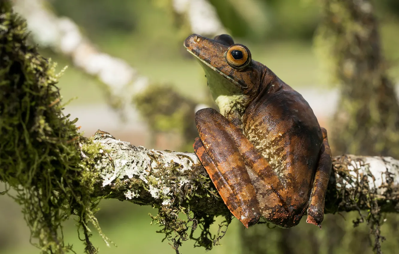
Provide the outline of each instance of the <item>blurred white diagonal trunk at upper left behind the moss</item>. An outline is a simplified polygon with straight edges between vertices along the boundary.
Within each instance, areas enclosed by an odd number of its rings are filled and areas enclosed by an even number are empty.
[[[132,107],[132,97],[148,86],[148,78],[126,61],[101,52],[75,22],[56,16],[47,4],[45,0],[14,0],[14,10],[26,19],[35,43],[65,55],[74,66],[103,82],[114,108]]]

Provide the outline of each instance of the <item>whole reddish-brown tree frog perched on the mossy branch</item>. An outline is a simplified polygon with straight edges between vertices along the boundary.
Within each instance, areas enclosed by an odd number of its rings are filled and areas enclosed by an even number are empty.
[[[327,132],[304,98],[229,35],[190,35],[220,113],[196,113],[194,150],[231,213],[280,227],[320,227],[331,171]]]

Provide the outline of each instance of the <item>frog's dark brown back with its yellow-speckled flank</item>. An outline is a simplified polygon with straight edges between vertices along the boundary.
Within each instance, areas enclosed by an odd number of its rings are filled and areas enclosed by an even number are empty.
[[[311,186],[322,132],[306,100],[281,80],[274,83],[263,88],[245,110],[244,133],[286,188],[298,190],[302,199]]]

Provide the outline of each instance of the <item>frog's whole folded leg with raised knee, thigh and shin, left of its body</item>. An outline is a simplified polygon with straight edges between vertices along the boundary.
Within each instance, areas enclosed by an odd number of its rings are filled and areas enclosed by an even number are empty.
[[[212,108],[196,113],[196,125],[199,139],[194,150],[223,201],[245,227],[256,224],[261,214],[280,227],[298,224],[303,204],[287,202],[289,195],[279,177],[242,131]]]

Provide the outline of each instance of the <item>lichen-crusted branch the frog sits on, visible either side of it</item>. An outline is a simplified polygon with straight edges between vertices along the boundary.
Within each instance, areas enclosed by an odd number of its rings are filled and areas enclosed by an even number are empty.
[[[99,166],[98,195],[113,190],[112,198],[164,209],[180,199],[191,211],[228,213],[196,154],[134,147],[102,131],[97,131],[95,139],[109,151],[114,165]],[[193,190],[199,195],[185,200],[186,191]],[[207,192],[211,194],[204,195]],[[399,212],[399,160],[351,154],[334,157],[326,213],[367,210],[372,201],[381,212]]]

